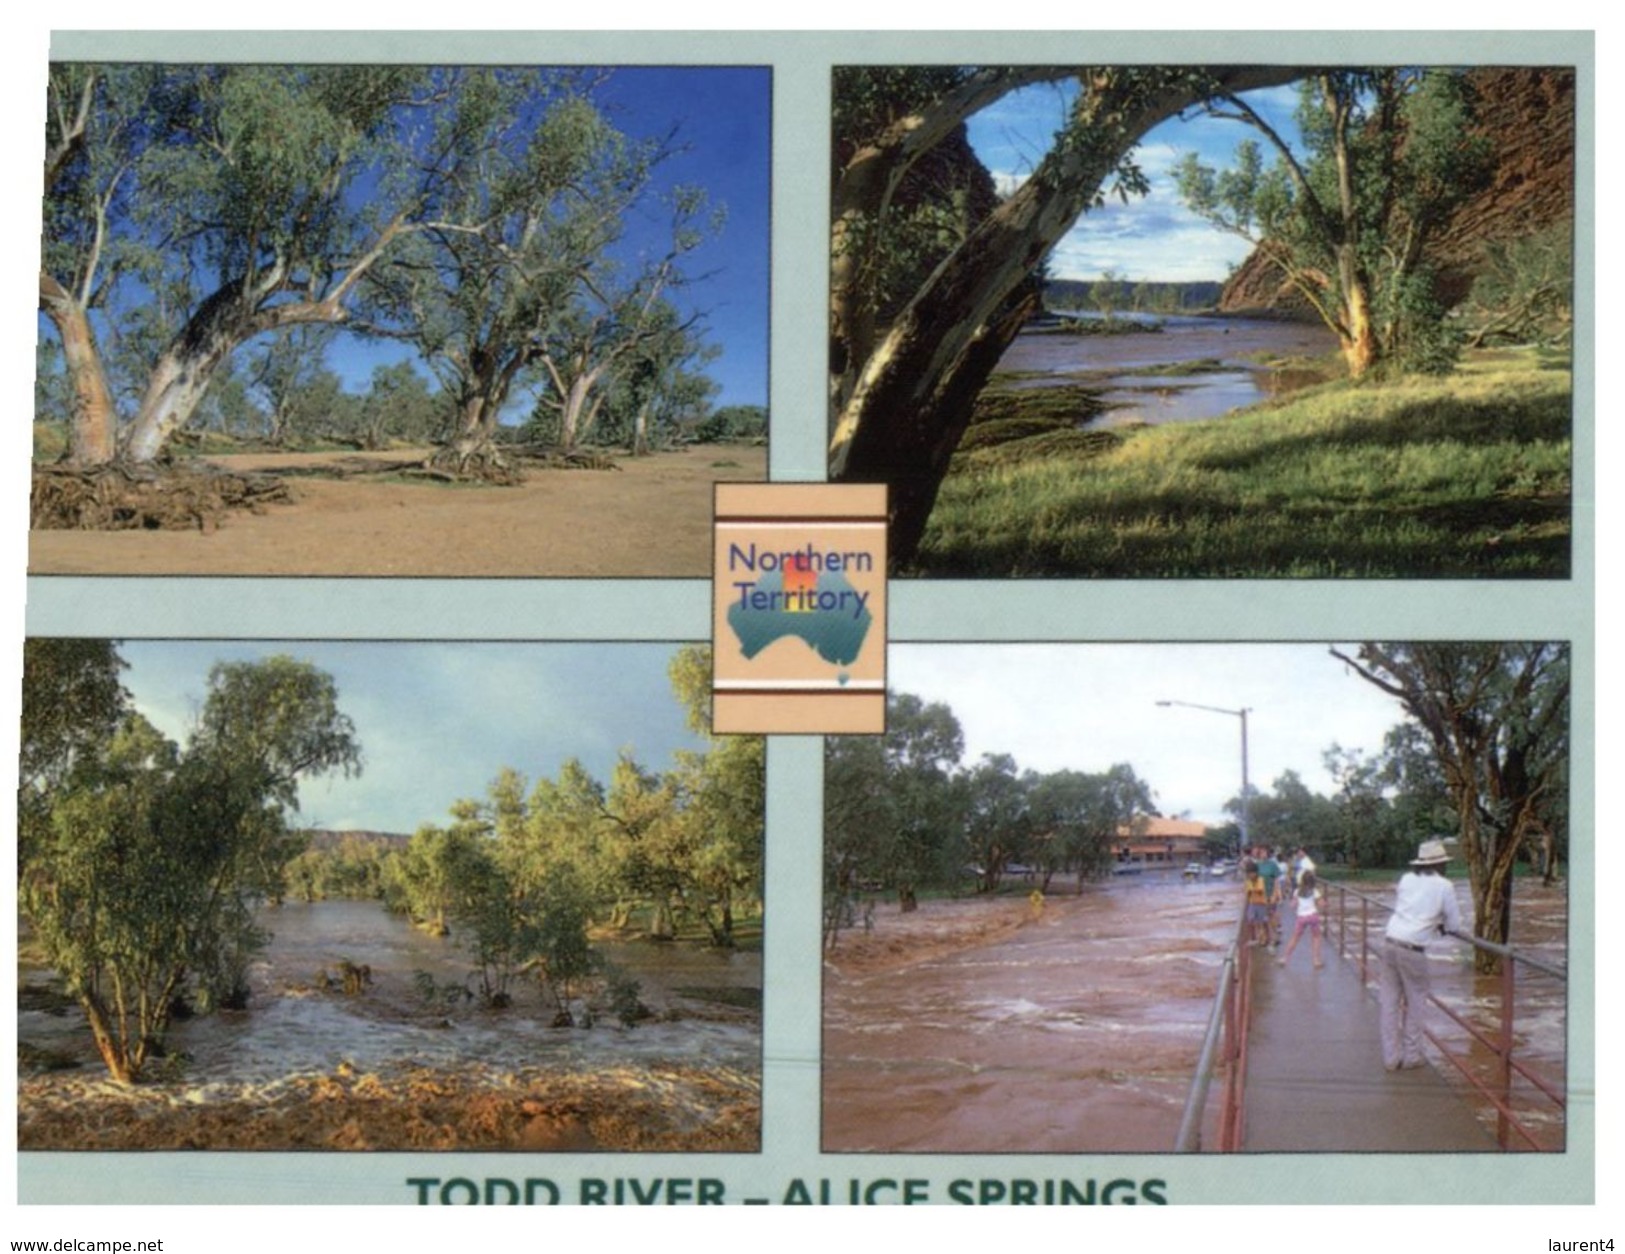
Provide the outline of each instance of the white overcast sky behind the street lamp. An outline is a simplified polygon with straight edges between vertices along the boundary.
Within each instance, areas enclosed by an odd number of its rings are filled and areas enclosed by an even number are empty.
[[[894,643],[887,666],[892,690],[954,710],[965,762],[1009,754],[1037,772],[1128,762],[1164,814],[1209,824],[1225,822],[1225,801],[1242,791],[1242,720],[1159,700],[1246,707],[1248,778],[1264,793],[1295,770],[1332,794],[1321,754],[1332,742],[1375,754],[1404,721],[1398,702],[1326,645]]]

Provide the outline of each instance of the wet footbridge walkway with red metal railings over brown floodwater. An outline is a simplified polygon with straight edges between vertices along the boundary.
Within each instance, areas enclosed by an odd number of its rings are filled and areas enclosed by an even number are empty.
[[[1471,1036],[1472,1057],[1430,1033],[1428,1066],[1383,1067],[1375,996],[1376,947],[1386,905],[1342,885],[1331,889],[1324,966],[1308,944],[1289,966],[1251,949],[1238,928],[1214,999],[1202,1061],[1191,1087],[1176,1148],[1253,1153],[1424,1153],[1537,1148],[1508,1096],[1563,1105],[1563,1093],[1514,1054],[1513,981],[1532,963],[1542,976],[1560,968],[1503,947],[1503,1004],[1488,1027],[1469,1023],[1435,1001]],[[1306,942],[1308,937],[1305,937]],[[1472,937],[1464,944],[1484,945]],[[1448,944],[1441,940],[1440,944]],[[1528,971],[1526,971],[1528,973]],[[1480,1111],[1488,1118],[1480,1119]]]

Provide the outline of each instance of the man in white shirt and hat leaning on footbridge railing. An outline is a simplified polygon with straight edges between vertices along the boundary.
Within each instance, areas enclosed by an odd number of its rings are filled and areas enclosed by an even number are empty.
[[[1428,996],[1427,942],[1461,931],[1456,890],[1445,879],[1445,841],[1424,840],[1399,879],[1383,937],[1376,992],[1383,1007],[1383,1066],[1420,1067],[1422,1015]]]

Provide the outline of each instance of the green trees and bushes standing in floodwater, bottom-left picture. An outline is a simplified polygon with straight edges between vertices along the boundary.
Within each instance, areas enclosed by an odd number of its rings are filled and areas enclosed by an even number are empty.
[[[250,965],[289,898],[382,900],[466,960],[460,997],[504,1010],[523,983],[556,1027],[647,1017],[603,939],[760,945],[760,737],[713,741],[663,772],[627,750],[608,783],[574,760],[535,788],[504,770],[406,843],[314,846],[291,822],[299,780],[361,768],[330,676],[284,656],[216,664],[177,746],[133,708],[122,668],[107,640],[28,642],[18,837],[29,952],[120,1082],[167,1056],[177,1018],[257,1009]],[[697,733],[708,676],[704,650],[674,655]],[[364,965],[330,962],[294,992],[370,988]],[[440,991],[431,979],[426,1001]]]

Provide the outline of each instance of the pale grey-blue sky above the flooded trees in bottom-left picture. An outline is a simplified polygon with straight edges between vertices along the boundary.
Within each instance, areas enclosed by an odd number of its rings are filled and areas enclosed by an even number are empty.
[[[359,778],[299,789],[306,827],[413,832],[483,798],[502,767],[535,783],[578,757],[608,781],[622,749],[648,770],[704,749],[666,681],[678,645],[418,642],[124,642],[135,707],[185,742],[216,661],[286,653],[338,685],[366,759]]]

